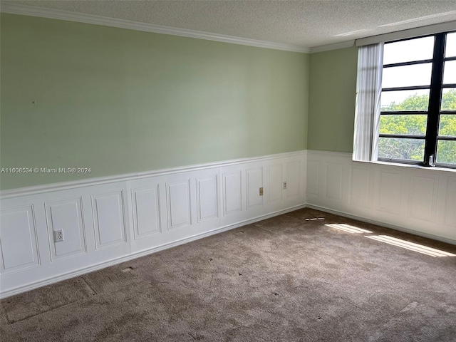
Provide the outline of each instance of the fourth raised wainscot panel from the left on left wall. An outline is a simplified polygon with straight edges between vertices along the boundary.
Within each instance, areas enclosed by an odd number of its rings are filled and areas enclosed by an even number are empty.
[[[160,226],[160,190],[150,185],[131,190],[134,239],[162,232]]]

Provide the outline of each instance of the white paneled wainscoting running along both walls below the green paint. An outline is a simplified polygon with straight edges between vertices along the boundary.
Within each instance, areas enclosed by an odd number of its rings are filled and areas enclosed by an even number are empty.
[[[289,152],[3,191],[0,296],[306,206],[456,244],[455,171]]]

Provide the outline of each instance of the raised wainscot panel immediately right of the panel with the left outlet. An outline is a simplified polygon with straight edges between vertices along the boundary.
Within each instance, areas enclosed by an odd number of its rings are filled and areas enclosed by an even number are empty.
[[[126,242],[123,217],[123,192],[92,196],[95,249]]]

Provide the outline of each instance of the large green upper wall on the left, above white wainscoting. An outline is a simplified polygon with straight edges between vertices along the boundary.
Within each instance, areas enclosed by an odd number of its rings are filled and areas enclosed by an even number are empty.
[[[307,148],[308,54],[13,14],[0,38],[0,166],[92,170],[2,190]]]

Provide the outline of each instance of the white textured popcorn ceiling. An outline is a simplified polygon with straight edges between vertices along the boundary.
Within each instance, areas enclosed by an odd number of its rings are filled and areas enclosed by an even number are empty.
[[[8,2],[306,48],[456,20],[455,0]]]

